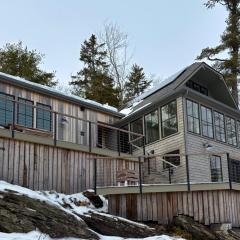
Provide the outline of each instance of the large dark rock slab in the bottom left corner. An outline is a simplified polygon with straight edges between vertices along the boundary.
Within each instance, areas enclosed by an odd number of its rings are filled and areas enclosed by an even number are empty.
[[[27,233],[39,229],[52,238],[99,239],[81,219],[45,202],[0,192],[0,232]]]

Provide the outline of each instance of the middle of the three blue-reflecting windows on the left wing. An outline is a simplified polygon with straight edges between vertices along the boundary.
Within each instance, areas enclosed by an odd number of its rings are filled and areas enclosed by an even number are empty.
[[[24,127],[33,127],[33,101],[18,98],[17,123]]]

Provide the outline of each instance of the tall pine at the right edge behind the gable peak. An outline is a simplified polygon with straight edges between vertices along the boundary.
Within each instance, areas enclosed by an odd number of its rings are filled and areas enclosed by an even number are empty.
[[[213,67],[219,70],[225,77],[233,98],[238,103],[238,77],[240,73],[240,0],[208,0],[207,8],[213,8],[221,4],[228,11],[226,20],[227,27],[221,35],[221,42],[213,48],[204,48],[197,59],[208,59],[213,61]],[[228,58],[221,58],[218,55],[228,52]]]

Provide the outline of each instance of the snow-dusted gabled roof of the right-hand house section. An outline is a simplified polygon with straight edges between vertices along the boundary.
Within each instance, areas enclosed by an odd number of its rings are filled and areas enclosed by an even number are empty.
[[[132,115],[137,115],[138,112],[142,112],[144,109],[151,108],[151,106],[159,102],[160,99],[163,99],[167,95],[174,95],[174,93],[182,89],[185,83],[193,76],[196,76],[200,70],[208,71],[206,74],[211,75],[211,77],[214,76],[215,80],[217,79],[219,81],[218,85],[221,86],[222,91],[225,91],[224,94],[221,93],[219,98],[221,99],[222,95],[224,95],[226,103],[230,107],[238,109],[236,102],[226,86],[223,76],[205,62],[196,62],[159,82],[156,86],[153,86],[152,89],[129,102],[127,108],[121,110],[121,113],[125,114],[124,118],[128,118],[130,116],[132,117]],[[209,78],[206,78],[206,80],[209,80]]]

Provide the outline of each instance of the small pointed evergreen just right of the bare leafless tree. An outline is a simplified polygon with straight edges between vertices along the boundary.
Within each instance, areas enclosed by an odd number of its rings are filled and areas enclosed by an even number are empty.
[[[142,94],[150,86],[151,82],[152,81],[146,78],[143,68],[137,64],[133,64],[125,85],[125,102],[131,101],[133,98]]]

